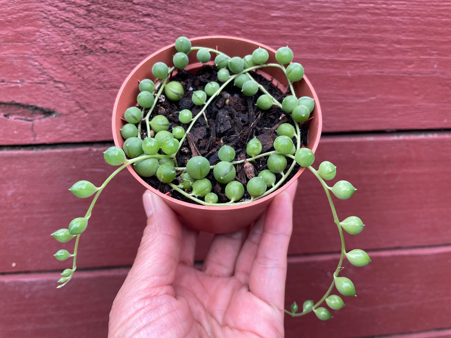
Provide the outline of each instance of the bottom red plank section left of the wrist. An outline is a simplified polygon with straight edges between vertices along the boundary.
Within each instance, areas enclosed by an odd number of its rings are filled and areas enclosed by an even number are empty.
[[[108,316],[128,269],[79,271],[70,288],[59,274],[0,276],[0,336],[106,337]]]

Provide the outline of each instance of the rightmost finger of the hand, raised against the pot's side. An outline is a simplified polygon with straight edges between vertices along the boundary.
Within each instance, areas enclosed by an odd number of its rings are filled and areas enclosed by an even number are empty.
[[[282,310],[286,255],[293,228],[290,192],[281,192],[267,209],[262,239],[249,277],[249,291]]]

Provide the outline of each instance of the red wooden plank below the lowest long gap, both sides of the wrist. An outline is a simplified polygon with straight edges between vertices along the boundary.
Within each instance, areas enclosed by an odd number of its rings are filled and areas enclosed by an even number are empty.
[[[370,254],[370,265],[346,264],[341,273],[354,282],[358,297],[344,297],[345,307],[332,311],[334,317],[326,322],[313,314],[286,316],[285,337],[449,337],[451,247]],[[285,306],[318,300],[337,260],[337,255],[290,258]],[[0,275],[0,336],[63,337],[70,332],[70,337],[106,337],[110,306],[127,271],[79,271],[58,290],[57,273]],[[447,329],[424,332],[441,328]]]

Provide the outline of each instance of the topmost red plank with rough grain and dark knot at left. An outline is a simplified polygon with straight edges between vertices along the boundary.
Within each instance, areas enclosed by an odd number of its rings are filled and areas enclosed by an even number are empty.
[[[206,34],[289,45],[326,132],[451,128],[450,1],[264,0],[257,17],[238,0],[0,5],[3,145],[110,140],[115,95],[133,67],[180,35]]]

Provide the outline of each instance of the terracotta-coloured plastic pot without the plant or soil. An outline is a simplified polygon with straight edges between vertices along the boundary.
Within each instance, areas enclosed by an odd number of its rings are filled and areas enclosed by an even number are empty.
[[[190,39],[192,46],[203,46],[221,50],[230,57],[252,54],[253,50],[258,47],[266,49],[269,53],[268,63],[276,63],[276,50],[259,44],[254,41],[240,39],[237,37],[198,37]],[[114,109],[113,109],[113,137],[115,145],[118,147],[123,146],[124,140],[120,135],[120,128],[124,125],[124,121],[121,119],[124,117],[124,112],[127,108],[136,105],[136,97],[138,96],[138,80],[144,78],[154,79],[152,75],[152,65],[156,62],[164,62],[168,66],[172,65],[172,57],[177,51],[174,45],[167,46],[153,53],[147,59],[143,60],[138,66],[133,69],[127,79],[122,84],[119,94],[116,97]],[[212,60],[214,56],[212,56]],[[212,63],[212,61],[210,62]],[[188,70],[195,70],[200,68],[202,64],[198,63],[196,58],[196,52],[189,54],[189,66]],[[287,80],[281,69],[275,67],[263,68],[259,72],[266,78],[274,78],[274,83],[278,83],[279,87],[286,86]],[[319,105],[318,97],[313,90],[312,85],[308,79],[304,76],[299,82],[294,84],[297,97],[310,96],[315,100],[315,108],[311,114],[313,119],[308,121],[308,145],[313,152],[316,150],[321,135],[322,118],[321,108]],[[241,228],[245,228],[258,218],[265,210],[272,199],[284,191],[291,183],[295,182],[299,178],[299,175],[304,171],[304,168],[300,168],[289,182],[275,192],[272,192],[268,196],[262,197],[256,201],[244,203],[240,205],[231,204],[230,206],[202,206],[199,204],[186,203],[176,200],[170,196],[167,196],[158,190],[151,187],[149,184],[143,181],[142,178],[136,174],[132,166],[127,167],[130,173],[141,183],[144,187],[151,190],[158,196],[165,199],[166,203],[180,216],[184,224],[191,226],[192,228],[212,232],[212,233],[228,233]]]

